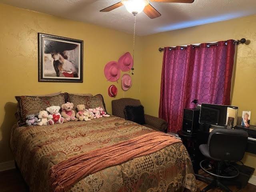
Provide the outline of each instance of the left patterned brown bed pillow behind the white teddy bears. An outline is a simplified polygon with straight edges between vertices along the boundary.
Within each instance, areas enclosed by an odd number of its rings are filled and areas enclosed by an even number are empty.
[[[26,115],[46,110],[49,106],[61,106],[65,103],[64,94],[53,96],[15,96],[18,101],[19,126],[26,124]]]

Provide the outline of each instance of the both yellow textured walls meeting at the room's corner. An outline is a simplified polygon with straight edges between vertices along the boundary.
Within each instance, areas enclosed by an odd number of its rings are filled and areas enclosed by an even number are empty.
[[[126,51],[132,52],[132,35],[32,12],[0,4],[0,162],[11,160],[10,127],[15,122],[16,95],[77,92],[102,94],[111,113],[111,100],[103,75],[104,65],[118,60]],[[38,82],[37,33],[53,34],[84,40],[84,83]],[[251,123],[256,124],[256,15],[206,24],[181,30],[136,37],[133,86],[123,92],[120,80],[116,98],[140,98],[145,112],[158,116],[163,53],[159,47],[246,38],[249,45],[238,46],[234,68],[232,105],[251,110]],[[246,154],[244,162],[256,167],[256,155]]]

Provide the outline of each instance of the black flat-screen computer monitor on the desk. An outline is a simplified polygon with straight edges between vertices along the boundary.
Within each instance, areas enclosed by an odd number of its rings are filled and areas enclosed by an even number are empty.
[[[233,128],[237,124],[238,107],[202,103],[199,123]]]

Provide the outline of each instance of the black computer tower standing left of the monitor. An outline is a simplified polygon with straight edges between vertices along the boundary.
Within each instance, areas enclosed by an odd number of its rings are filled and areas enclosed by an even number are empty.
[[[200,109],[184,109],[182,132],[195,134],[199,128]]]

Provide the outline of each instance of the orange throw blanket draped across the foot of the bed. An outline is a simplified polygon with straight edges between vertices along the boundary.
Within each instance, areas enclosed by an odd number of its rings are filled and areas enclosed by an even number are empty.
[[[74,156],[50,169],[52,191],[65,192],[89,174],[154,153],[177,142],[181,140],[163,132],[152,132]]]

